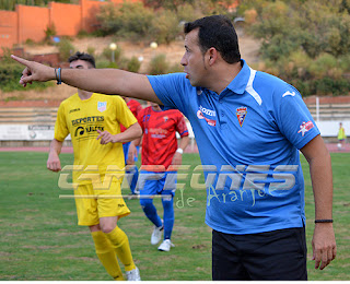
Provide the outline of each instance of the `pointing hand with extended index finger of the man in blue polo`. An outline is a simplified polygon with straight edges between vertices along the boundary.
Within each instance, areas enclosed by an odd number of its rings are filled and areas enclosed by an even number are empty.
[[[26,84],[32,84],[33,81],[46,82],[56,79],[54,68],[34,61],[28,61],[16,56],[11,56],[11,58],[25,66],[20,80],[20,84],[23,86],[26,86]]]

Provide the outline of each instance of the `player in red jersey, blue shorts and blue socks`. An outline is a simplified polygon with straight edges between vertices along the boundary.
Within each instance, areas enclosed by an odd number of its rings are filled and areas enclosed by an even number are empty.
[[[142,137],[142,167],[152,165],[150,170],[140,170],[137,189],[140,192],[140,204],[145,216],[154,224],[151,244],[156,245],[164,230],[164,240],[159,246],[161,251],[170,251],[174,246],[171,236],[174,226],[174,196],[176,190],[176,171],[166,170],[170,165],[180,165],[183,152],[188,145],[188,130],[185,118],[176,109],[162,111],[158,104],[151,103],[150,107],[142,109],[138,116],[139,123],[143,130]],[[177,145],[176,132],[180,135]],[[132,143],[138,145],[140,139]],[[161,166],[154,168],[155,166]],[[152,198],[142,196],[162,194],[164,215],[162,222],[153,205]]]

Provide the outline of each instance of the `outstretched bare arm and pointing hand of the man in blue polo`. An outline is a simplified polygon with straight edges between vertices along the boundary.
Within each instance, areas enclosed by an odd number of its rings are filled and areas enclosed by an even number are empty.
[[[11,57],[25,66],[20,80],[20,84],[23,86],[34,81],[56,80],[54,68],[16,56]],[[61,81],[68,85],[90,92],[107,95],[118,94],[162,104],[148,78],[143,74],[118,69],[62,69]]]

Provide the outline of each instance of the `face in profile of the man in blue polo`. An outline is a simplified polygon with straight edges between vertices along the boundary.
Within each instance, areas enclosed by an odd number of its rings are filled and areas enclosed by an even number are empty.
[[[198,28],[189,32],[185,36],[185,55],[180,64],[184,67],[186,78],[192,86],[206,86],[206,76],[208,70],[206,68],[205,57],[198,45]]]

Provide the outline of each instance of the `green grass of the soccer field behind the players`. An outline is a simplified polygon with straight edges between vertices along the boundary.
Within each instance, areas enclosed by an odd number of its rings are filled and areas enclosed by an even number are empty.
[[[312,261],[314,201],[308,167],[302,158],[310,280],[350,279],[350,154],[335,153],[331,157],[338,255],[324,271],[315,271]],[[59,199],[59,194],[71,192],[58,188],[58,174],[46,169],[46,153],[0,153],[0,280],[110,280],[97,260],[89,229],[77,225],[74,201]],[[61,162],[72,164],[72,156],[61,154]],[[184,164],[192,169],[200,161],[197,154],[184,154]],[[205,224],[203,190],[187,185],[186,190],[176,192],[172,237],[176,247],[168,253],[150,245],[152,226],[138,200],[126,202],[131,214],[121,218],[119,226],[129,237],[142,280],[211,280],[211,229]],[[160,200],[155,203],[161,209]]]

